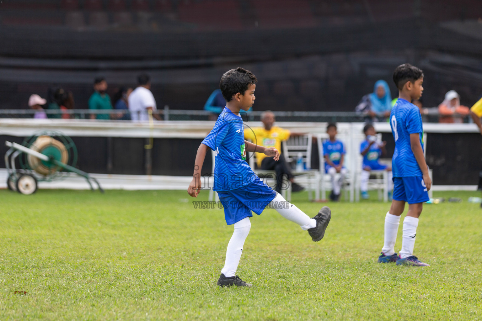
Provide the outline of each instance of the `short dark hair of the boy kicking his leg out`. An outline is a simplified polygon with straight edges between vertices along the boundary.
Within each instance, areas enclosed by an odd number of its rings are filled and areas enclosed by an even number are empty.
[[[219,82],[219,87],[221,88],[224,100],[230,102],[234,95],[238,92],[244,95],[249,86],[255,84],[257,81],[258,79],[256,79],[256,76],[254,76],[251,71],[238,67],[224,73]]]

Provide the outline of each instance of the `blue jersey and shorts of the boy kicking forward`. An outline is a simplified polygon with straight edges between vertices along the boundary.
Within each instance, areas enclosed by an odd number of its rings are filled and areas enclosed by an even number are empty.
[[[213,189],[224,207],[226,223],[231,225],[250,218],[253,216],[251,211],[260,215],[276,197],[276,192],[246,163],[241,116],[234,115],[225,107],[202,143],[217,154]]]

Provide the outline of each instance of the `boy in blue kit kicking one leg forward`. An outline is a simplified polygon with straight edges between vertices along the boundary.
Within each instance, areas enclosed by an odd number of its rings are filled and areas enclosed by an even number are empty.
[[[219,286],[251,286],[236,275],[244,241],[251,228],[251,211],[260,215],[270,203],[283,218],[298,224],[308,231],[312,240],[320,241],[331,219],[330,208],[324,206],[314,217],[309,218],[295,205],[287,202],[281,194],[263,183],[246,163],[246,151],[261,152],[274,160],[280,153],[273,147],[262,147],[244,140],[244,127],[240,110],[249,110],[254,103],[256,77],[243,68],[231,69],[221,77],[220,87],[226,107],[217,118],[213,130],[198,148],[194,174],[187,193],[197,197],[201,190],[201,168],[208,148],[216,152],[214,163],[214,191],[224,207],[224,217],[228,225],[234,224],[234,232],[229,240],[226,261]]]

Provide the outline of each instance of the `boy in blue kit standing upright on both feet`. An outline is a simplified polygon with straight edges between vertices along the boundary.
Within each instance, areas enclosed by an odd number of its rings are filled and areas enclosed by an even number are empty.
[[[422,204],[428,201],[432,181],[423,155],[422,116],[417,106],[410,103],[422,95],[423,72],[411,64],[395,69],[393,81],[399,98],[390,112],[390,126],[395,139],[392,158],[393,200],[385,217],[385,241],[378,262],[397,262],[397,265],[429,266],[414,256],[415,236]],[[408,203],[408,213],[403,220],[402,250],[397,257],[395,241],[400,215]]]

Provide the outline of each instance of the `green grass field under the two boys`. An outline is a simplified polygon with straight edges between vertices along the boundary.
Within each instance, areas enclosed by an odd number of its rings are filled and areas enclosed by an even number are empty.
[[[186,192],[0,190],[0,320],[482,320],[479,193],[434,196],[464,202],[424,206],[429,268],[376,263],[388,204],[329,204],[318,243],[267,209],[237,271],[253,287],[218,288],[232,227]]]

